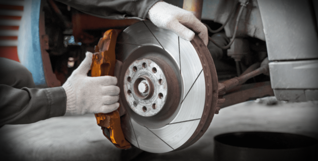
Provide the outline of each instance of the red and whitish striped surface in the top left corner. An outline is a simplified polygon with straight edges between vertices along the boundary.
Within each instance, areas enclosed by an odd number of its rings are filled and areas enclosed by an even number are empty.
[[[23,4],[23,0],[0,0],[0,57],[19,61],[17,38]]]

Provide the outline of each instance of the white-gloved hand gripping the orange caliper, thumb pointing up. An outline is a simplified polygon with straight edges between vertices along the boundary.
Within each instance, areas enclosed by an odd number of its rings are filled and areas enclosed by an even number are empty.
[[[119,87],[113,76],[88,77],[93,53],[86,52],[86,58],[62,86],[66,92],[65,115],[86,113],[109,113],[119,107]]]

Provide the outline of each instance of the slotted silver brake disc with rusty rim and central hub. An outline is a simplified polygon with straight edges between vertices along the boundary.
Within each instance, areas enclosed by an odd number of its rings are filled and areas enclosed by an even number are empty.
[[[123,62],[118,85],[125,138],[153,153],[180,150],[209,127],[218,99],[212,57],[196,35],[191,42],[142,21],[117,38]]]

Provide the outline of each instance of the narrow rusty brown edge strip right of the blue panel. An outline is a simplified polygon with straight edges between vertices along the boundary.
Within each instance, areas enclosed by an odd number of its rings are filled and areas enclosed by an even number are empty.
[[[39,35],[45,81],[47,87],[59,87],[61,86],[61,82],[56,78],[56,75],[53,73],[50,56],[49,53],[46,51],[47,49],[49,49],[49,37],[45,34],[45,21],[44,12],[42,11],[42,5],[43,4],[41,4],[39,17]]]

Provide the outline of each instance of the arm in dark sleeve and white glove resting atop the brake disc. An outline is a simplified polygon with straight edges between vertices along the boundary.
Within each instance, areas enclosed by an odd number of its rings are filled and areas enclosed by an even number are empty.
[[[208,44],[208,29],[192,13],[161,0],[57,0],[84,13],[107,18],[148,18],[156,26],[169,29],[191,41],[195,33]],[[194,33],[194,32],[195,33]]]

